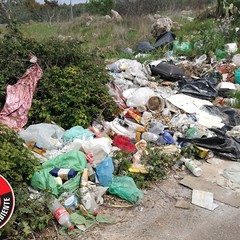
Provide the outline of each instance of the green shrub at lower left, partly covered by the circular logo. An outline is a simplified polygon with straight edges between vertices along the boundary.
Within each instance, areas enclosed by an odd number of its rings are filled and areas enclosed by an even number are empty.
[[[17,134],[0,124],[0,173],[11,184],[15,209],[9,222],[0,229],[1,239],[26,239],[33,231],[42,230],[52,218],[38,200],[30,200],[28,185],[38,160],[23,146]]]

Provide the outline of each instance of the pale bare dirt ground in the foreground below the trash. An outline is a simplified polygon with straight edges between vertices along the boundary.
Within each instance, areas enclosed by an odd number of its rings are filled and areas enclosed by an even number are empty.
[[[200,163],[201,177],[211,182],[223,182],[224,168],[240,163],[213,159],[211,163]],[[212,170],[211,170],[212,169]],[[204,174],[205,173],[205,174]],[[83,240],[239,240],[240,209],[214,200],[219,206],[211,211],[191,203],[192,190],[179,184],[191,174],[187,170],[171,173],[164,181],[152,183],[144,190],[144,199],[138,206],[116,197],[105,196],[102,209],[115,219],[113,224],[95,225],[79,237],[59,235],[53,227],[36,239],[83,239]],[[224,186],[223,186],[224,187]],[[239,191],[239,189],[229,189]],[[182,207],[176,207],[181,200]],[[240,199],[239,199],[240,201]],[[48,235],[46,234],[48,232]]]

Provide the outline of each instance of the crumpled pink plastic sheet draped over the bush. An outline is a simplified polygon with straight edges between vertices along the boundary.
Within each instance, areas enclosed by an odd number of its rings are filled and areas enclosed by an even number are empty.
[[[16,84],[7,86],[6,102],[0,112],[0,122],[16,130],[25,126],[33,94],[42,74],[41,67],[35,63]]]

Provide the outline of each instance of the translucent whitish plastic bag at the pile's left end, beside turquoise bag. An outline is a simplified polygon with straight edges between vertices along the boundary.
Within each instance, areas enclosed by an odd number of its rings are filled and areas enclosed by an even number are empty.
[[[18,134],[27,144],[36,142],[40,148],[56,149],[62,145],[63,133],[64,130],[57,125],[39,123],[20,130]]]

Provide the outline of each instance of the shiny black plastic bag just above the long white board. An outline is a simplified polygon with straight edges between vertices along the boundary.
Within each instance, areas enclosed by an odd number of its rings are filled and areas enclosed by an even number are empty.
[[[215,99],[218,95],[217,83],[215,79],[187,80],[178,82],[179,92],[200,99]]]

